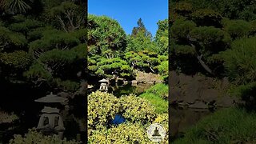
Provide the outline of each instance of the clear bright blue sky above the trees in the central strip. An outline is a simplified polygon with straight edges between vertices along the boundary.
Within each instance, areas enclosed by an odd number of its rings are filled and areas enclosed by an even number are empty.
[[[168,18],[168,0],[88,0],[88,13],[117,20],[126,34],[137,26],[138,18],[154,36],[157,22]]]

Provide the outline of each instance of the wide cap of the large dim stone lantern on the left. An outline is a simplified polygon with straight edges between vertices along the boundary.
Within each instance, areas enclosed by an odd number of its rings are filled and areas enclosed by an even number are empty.
[[[62,98],[59,97],[56,94],[53,94],[52,92],[48,95],[46,95],[45,97],[42,98],[38,98],[36,100],[34,100],[35,102],[45,102],[45,103],[50,103],[50,102],[65,102],[67,100],[67,98]]]

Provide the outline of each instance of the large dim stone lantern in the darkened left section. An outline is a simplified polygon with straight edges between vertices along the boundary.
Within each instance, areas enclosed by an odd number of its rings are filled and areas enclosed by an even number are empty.
[[[38,98],[34,101],[43,102],[46,105],[41,111],[42,115],[39,119],[37,130],[41,130],[46,134],[58,133],[58,137],[62,139],[65,127],[57,105],[65,102],[66,98],[50,93],[46,97]]]

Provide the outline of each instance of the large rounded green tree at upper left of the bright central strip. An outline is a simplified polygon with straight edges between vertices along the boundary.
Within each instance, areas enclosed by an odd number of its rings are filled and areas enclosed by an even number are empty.
[[[126,33],[119,23],[106,16],[89,15],[88,46],[96,46],[98,50],[92,54],[101,54],[106,50],[125,50]]]

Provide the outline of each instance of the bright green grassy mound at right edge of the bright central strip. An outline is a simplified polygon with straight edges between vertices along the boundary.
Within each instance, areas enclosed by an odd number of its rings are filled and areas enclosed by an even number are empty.
[[[154,106],[156,113],[163,114],[168,112],[168,101],[164,99],[168,97],[168,86],[158,83],[139,95],[139,97],[148,100]]]

